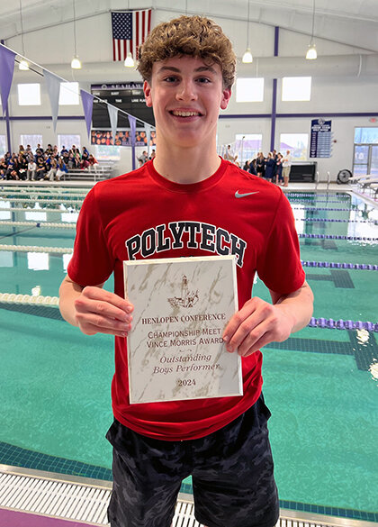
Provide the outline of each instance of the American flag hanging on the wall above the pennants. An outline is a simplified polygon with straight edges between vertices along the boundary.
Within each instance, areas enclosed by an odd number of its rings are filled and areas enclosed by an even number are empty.
[[[112,59],[124,60],[129,52],[138,59],[138,48],[150,29],[150,9],[112,13]]]

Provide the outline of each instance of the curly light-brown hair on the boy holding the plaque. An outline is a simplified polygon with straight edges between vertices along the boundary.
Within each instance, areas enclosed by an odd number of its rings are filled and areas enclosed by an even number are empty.
[[[180,16],[159,23],[139,48],[138,70],[151,81],[154,62],[188,55],[205,64],[219,64],[223,86],[229,89],[235,80],[236,55],[219,25],[203,16]]]

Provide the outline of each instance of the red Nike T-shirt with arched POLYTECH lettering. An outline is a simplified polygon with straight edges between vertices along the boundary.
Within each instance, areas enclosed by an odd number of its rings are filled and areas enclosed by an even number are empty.
[[[94,286],[114,272],[114,292],[123,297],[125,259],[225,254],[236,255],[239,308],[251,298],[256,271],[276,293],[302,286],[298,235],[282,190],[223,159],[215,174],[189,185],[161,177],[149,161],[97,183],[85,197],[68,276]],[[242,359],[242,396],[130,404],[127,343],[115,337],[112,410],[118,421],[149,437],[199,438],[257,401],[261,364],[260,351]]]

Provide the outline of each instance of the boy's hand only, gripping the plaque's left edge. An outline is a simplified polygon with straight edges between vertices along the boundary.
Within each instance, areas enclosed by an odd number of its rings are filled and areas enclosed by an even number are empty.
[[[85,335],[107,333],[127,337],[134,306],[101,287],[86,286],[75,302],[75,319]]]

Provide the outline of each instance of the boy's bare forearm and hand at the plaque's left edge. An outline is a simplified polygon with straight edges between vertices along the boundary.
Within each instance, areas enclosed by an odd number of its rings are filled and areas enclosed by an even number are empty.
[[[63,318],[85,335],[107,333],[126,337],[132,321],[132,304],[98,286],[80,286],[65,277],[59,288],[59,309]]]

